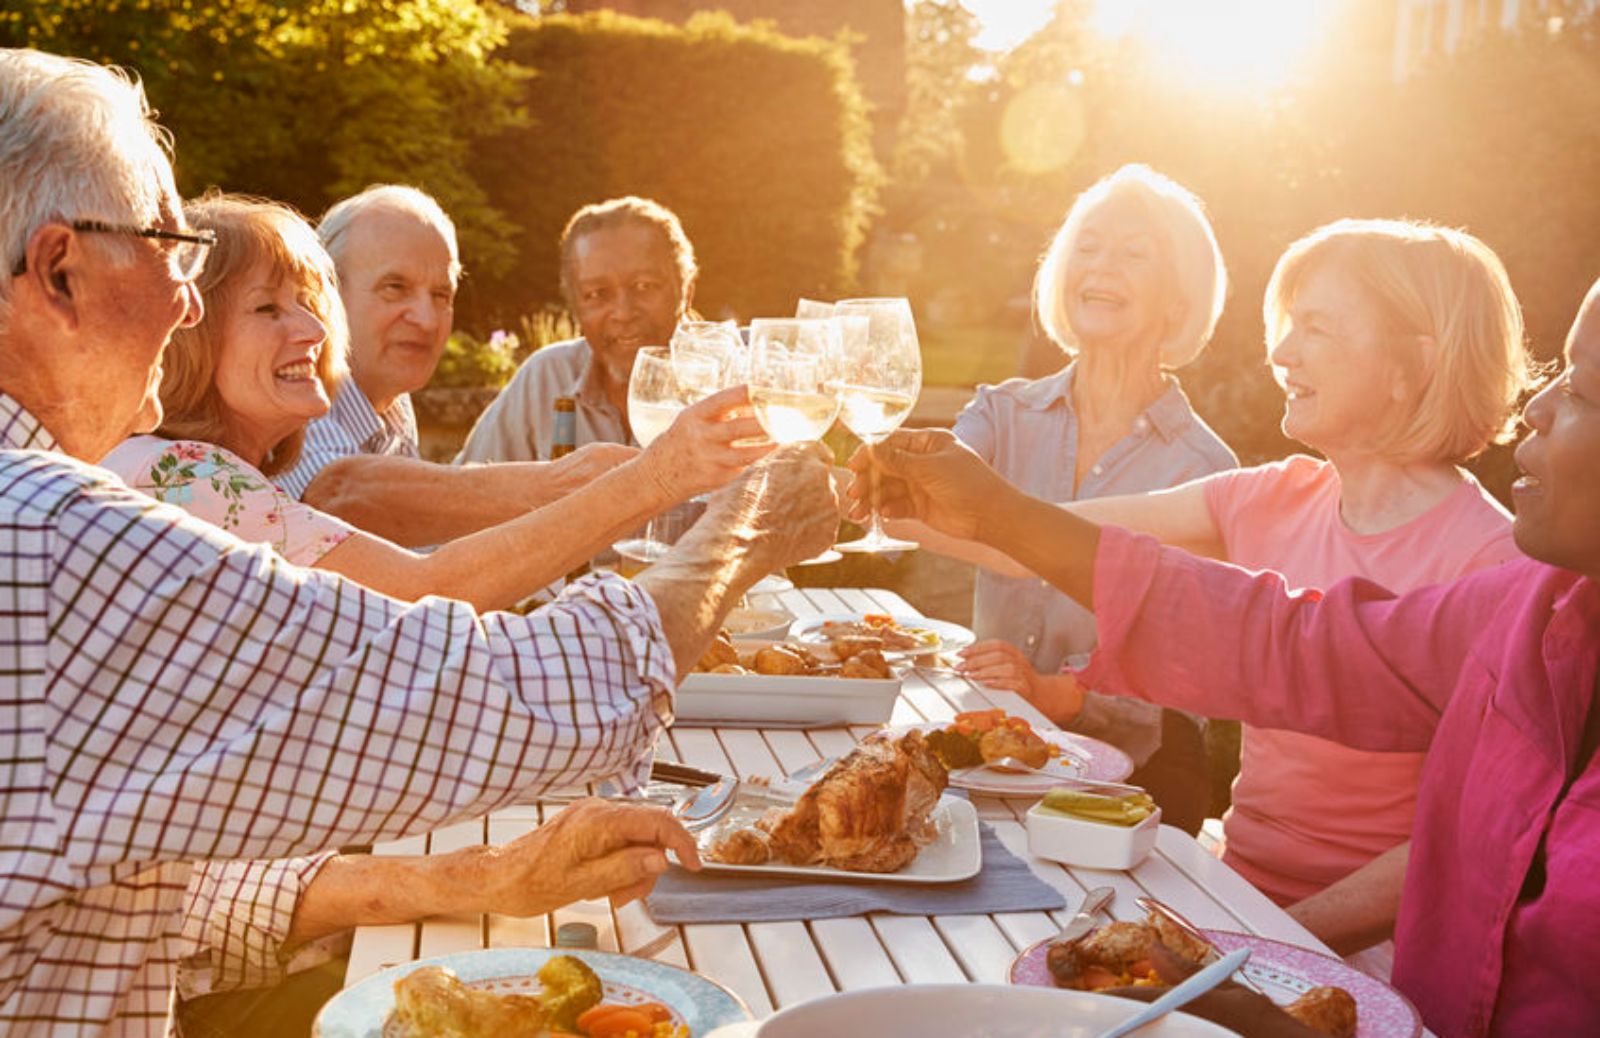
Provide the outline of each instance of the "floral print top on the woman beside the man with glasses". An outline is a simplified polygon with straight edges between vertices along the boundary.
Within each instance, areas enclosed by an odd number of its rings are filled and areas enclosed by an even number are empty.
[[[242,541],[270,544],[296,566],[315,566],[355,533],[349,523],[294,501],[243,457],[213,443],[133,437],[117,445],[101,467]]]

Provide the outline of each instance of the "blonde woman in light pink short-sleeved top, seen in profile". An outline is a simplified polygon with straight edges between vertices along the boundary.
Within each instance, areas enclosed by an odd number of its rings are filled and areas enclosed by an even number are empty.
[[[1418,222],[1338,221],[1283,253],[1264,318],[1283,432],[1325,461],[1294,456],[1064,507],[1274,569],[1293,587],[1358,576],[1403,593],[1518,555],[1509,513],[1461,469],[1509,437],[1530,384],[1522,312],[1483,242]],[[1034,691],[1053,715],[1070,715],[1082,694],[1075,681]],[[1222,857],[1274,900],[1298,902],[1293,912],[1336,948],[1381,940],[1421,766],[1422,753],[1246,725]]]

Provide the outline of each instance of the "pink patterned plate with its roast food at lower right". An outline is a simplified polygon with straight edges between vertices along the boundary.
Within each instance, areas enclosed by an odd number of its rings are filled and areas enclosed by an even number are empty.
[[[1422,1020],[1405,995],[1382,980],[1282,940],[1221,929],[1198,931],[1195,940],[1160,916],[1118,921],[1090,931],[1080,940],[1058,945],[1040,940],[1011,963],[1010,980],[1024,987],[1107,990],[1160,985],[1149,961],[1152,942],[1198,964],[1211,948],[1226,955],[1250,948],[1245,979],[1306,1027],[1338,1038],[1416,1038]]]

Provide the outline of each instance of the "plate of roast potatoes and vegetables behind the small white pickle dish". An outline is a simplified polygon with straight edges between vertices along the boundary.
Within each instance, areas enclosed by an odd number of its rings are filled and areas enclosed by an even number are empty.
[[[1109,742],[1070,731],[1035,729],[1027,718],[1000,709],[970,710],[944,725],[912,728],[928,736],[950,771],[950,785],[971,793],[1043,796],[1072,779],[1122,782],[1133,774],[1133,758]],[[1003,757],[1037,771],[1016,774],[987,766]]]

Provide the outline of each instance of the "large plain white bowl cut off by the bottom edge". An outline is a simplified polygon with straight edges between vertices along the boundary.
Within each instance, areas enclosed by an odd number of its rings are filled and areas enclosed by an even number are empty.
[[[789,1006],[760,1025],[718,1028],[709,1038],[1091,1038],[1144,1003],[1091,992],[1006,984],[914,984],[824,995]],[[1173,1012],[1144,1038],[1219,1038],[1234,1032]]]

